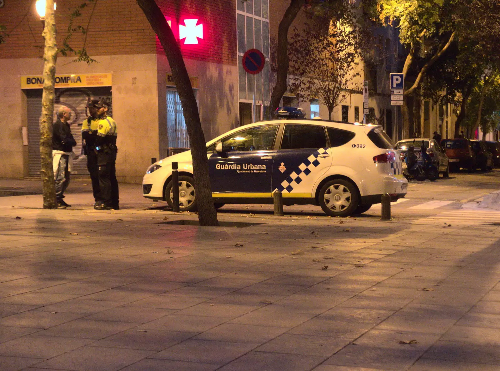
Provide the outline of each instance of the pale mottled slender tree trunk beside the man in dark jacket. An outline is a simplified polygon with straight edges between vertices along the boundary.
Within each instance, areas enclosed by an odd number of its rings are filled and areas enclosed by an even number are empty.
[[[45,38],[45,49],[43,50],[43,93],[40,121],[40,174],[43,187],[43,208],[57,208],[54,171],[52,169],[52,124],[54,116],[55,61],[57,59],[54,0],[46,1],[45,26],[42,36]]]

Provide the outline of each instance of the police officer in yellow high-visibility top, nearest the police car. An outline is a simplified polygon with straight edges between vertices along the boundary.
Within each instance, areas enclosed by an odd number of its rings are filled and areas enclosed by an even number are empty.
[[[109,104],[99,100],[97,116],[100,118],[97,126],[97,138],[95,139],[95,150],[97,152],[97,165],[99,173],[99,187],[102,203],[95,205],[97,210],[117,210],[118,205],[118,181],[116,180],[116,122],[107,115]]]

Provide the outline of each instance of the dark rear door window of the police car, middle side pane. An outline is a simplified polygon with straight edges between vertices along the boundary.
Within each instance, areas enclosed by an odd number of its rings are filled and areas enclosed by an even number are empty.
[[[293,123],[284,126],[281,149],[324,147],[326,147],[326,134],[323,126]]]

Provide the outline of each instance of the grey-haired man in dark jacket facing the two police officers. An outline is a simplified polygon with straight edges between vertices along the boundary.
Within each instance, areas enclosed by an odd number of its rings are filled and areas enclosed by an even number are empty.
[[[76,145],[68,124],[71,110],[62,105],[57,111],[57,117],[57,121],[52,126],[52,168],[55,179],[55,197],[58,207],[71,207],[63,200],[64,191],[69,184],[73,147]]]

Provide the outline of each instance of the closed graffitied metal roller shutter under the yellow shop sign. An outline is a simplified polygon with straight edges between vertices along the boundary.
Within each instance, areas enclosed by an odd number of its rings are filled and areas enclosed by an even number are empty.
[[[29,175],[40,173],[40,116],[41,116],[41,89],[26,90],[27,96],[27,119],[28,119],[28,154]],[[55,89],[54,121],[57,119],[57,109],[65,105],[71,109],[71,121],[69,126],[76,140],[73,147],[73,170],[72,174],[88,174],[86,156],[83,155],[81,147],[81,123],[87,117],[85,106],[87,99],[102,99],[109,104],[109,115],[112,116],[111,87],[73,87]]]

